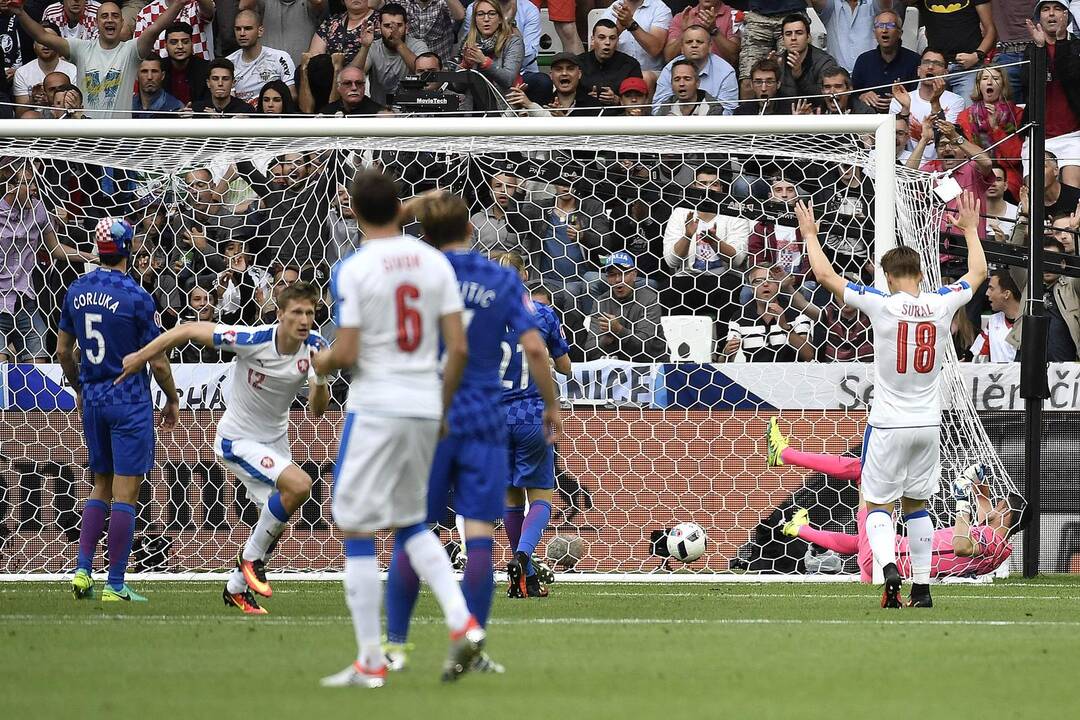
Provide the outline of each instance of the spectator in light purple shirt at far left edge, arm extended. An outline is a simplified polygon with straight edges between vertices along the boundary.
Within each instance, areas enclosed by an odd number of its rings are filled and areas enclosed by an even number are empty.
[[[18,163],[18,164],[14,164]],[[33,289],[38,253],[65,262],[96,258],[59,242],[38,198],[32,165],[14,161],[0,168],[0,357],[3,362],[49,362],[45,322]]]

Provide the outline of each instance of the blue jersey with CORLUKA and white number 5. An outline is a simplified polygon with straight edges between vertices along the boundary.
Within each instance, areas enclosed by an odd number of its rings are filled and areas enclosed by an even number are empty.
[[[161,334],[150,294],[126,273],[100,268],[71,283],[60,329],[79,342],[79,382],[86,405],[150,402],[150,376],[136,372],[113,385],[124,355]]]

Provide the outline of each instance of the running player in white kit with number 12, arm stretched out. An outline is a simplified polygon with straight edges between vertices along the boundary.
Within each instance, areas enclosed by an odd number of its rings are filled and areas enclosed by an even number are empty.
[[[266,566],[293,513],[311,494],[311,477],[293,462],[288,415],[297,393],[308,384],[308,411],[319,418],[329,403],[326,378],[316,375],[311,355],[326,341],[312,330],[319,288],[294,283],[278,297],[278,322],[246,327],[185,323],[124,358],[124,375],[137,372],[149,357],[187,342],[237,356],[227,408],[217,423],[214,451],[259,506],[259,519],[237,556],[221,598],[245,614],[265,615],[252,590],[273,593]]]

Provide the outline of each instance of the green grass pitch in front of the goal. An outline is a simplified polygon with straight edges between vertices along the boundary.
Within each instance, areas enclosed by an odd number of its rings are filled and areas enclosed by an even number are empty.
[[[279,581],[264,617],[218,583],[134,585],[149,603],[0,585],[4,718],[1080,717],[1075,576],[937,585],[932,610],[888,612],[855,584],[500,587],[488,650],[507,674],[449,685],[424,592],[410,667],[381,690],[319,687],[355,652],[339,583]]]

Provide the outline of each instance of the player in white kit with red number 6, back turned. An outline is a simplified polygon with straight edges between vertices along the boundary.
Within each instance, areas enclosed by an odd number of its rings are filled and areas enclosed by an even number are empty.
[[[321,375],[338,369],[352,375],[333,511],[345,533],[346,602],[357,657],[322,684],[386,683],[375,531],[387,529],[394,530],[395,545],[443,609],[450,630],[443,680],[454,680],[469,670],[486,635],[424,520],[435,445],[469,359],[461,295],[446,256],[402,234],[401,189],[393,179],[362,171],[350,196],[364,242],[334,268],[337,338],[313,363]],[[440,336],[446,349],[442,382]]]

